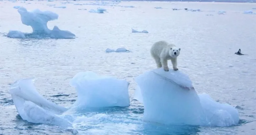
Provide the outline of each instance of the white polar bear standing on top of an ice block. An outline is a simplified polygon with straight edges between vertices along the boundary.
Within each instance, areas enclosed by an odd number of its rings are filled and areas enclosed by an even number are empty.
[[[169,71],[167,60],[171,60],[174,71],[177,71],[177,57],[180,55],[180,48],[166,41],[157,41],[150,49],[151,56],[155,59],[157,68],[163,66],[164,71]]]

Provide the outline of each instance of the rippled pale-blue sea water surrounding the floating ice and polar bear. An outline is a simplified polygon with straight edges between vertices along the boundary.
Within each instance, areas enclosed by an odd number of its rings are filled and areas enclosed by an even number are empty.
[[[102,6],[93,5],[95,1],[63,2],[66,1],[0,1],[0,134],[71,134],[58,126],[22,120],[12,102],[9,86],[17,79],[34,77],[41,95],[68,107],[77,96],[75,89],[69,86],[70,79],[76,73],[88,70],[129,81],[131,102],[129,107],[124,108],[78,112],[78,115],[85,116],[82,124],[74,125],[79,134],[256,134],[256,15],[244,14],[247,10],[256,12],[252,9],[256,4],[105,1],[105,6]],[[66,8],[54,8],[47,4]],[[20,14],[14,6],[58,13],[59,18],[48,22],[48,28],[56,25],[74,33],[76,38],[7,38],[5,35],[9,30],[32,32],[30,26],[21,23]],[[108,12],[88,12],[97,7]],[[218,14],[219,11],[225,13]],[[131,28],[149,33],[131,33]],[[198,93],[206,92],[218,102],[236,106],[240,117],[238,126],[164,126],[141,120],[143,106],[133,100],[134,78],[156,68],[149,49],[158,40],[181,47],[178,67],[190,76]],[[125,47],[131,52],[105,52],[107,48],[118,47]],[[235,55],[238,49],[248,55]]]

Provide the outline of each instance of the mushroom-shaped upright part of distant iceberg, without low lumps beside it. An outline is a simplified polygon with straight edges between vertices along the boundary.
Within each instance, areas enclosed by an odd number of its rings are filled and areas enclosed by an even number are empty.
[[[18,12],[21,15],[21,22],[31,26],[33,33],[49,34],[51,32],[47,27],[47,22],[58,19],[58,14],[51,11],[40,11],[36,9],[28,12],[24,7],[20,7]]]

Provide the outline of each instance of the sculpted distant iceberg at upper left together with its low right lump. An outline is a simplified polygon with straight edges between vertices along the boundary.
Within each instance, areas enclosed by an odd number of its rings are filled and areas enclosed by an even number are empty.
[[[21,22],[32,27],[32,34],[34,35],[39,34],[51,38],[75,38],[73,33],[66,30],[60,30],[57,26],[54,26],[53,30],[48,29],[47,22],[58,19],[57,13],[40,11],[39,9],[27,11],[25,7],[18,8],[18,13],[20,13],[21,16]]]

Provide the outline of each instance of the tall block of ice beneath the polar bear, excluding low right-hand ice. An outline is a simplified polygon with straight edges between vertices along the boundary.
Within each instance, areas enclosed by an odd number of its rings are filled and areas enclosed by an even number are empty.
[[[202,106],[185,74],[158,68],[139,75],[135,81],[143,97],[143,120],[178,125],[201,124]]]

